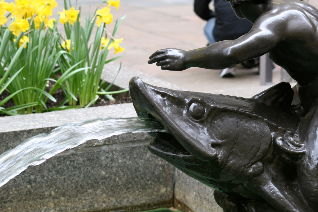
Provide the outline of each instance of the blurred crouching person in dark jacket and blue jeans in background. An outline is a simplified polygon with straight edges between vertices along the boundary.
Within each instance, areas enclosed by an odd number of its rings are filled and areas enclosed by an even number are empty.
[[[204,27],[204,34],[210,44],[222,40],[235,40],[245,35],[252,28],[248,20],[239,19],[231,5],[224,0],[214,0],[214,10],[209,8],[212,0],[195,0],[194,12],[207,23]],[[248,60],[242,63],[245,68],[252,68],[258,64],[258,59]],[[234,77],[235,66],[222,69],[220,77]]]

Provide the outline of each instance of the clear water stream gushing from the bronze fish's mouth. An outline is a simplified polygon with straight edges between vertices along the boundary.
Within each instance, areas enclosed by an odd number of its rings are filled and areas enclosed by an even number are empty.
[[[23,172],[54,155],[83,144],[122,133],[167,132],[158,122],[141,118],[94,119],[79,124],[66,124],[48,134],[39,134],[23,141],[0,155],[0,187]]]

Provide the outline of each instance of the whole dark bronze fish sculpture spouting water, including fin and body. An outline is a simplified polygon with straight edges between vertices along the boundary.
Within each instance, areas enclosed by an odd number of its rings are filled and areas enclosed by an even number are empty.
[[[176,91],[135,77],[129,92],[139,117],[169,131],[152,134],[150,152],[215,188],[224,211],[316,210],[317,171],[299,178],[317,161],[298,132],[310,121],[292,105],[289,83],[245,99]],[[302,168],[311,156],[316,158]]]

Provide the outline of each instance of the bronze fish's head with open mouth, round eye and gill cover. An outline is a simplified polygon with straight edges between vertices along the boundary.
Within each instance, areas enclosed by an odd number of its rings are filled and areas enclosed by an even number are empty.
[[[242,181],[251,167],[261,172],[259,161],[272,143],[270,122],[287,124],[280,111],[272,120],[264,118],[273,108],[268,99],[260,101],[264,94],[244,99],[177,91],[138,77],[131,79],[129,92],[138,117],[157,120],[169,131],[152,134],[150,152],[214,188],[219,181]]]

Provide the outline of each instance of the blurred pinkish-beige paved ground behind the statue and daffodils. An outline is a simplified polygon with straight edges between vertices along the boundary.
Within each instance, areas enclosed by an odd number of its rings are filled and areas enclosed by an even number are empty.
[[[57,0],[61,11],[63,0]],[[72,1],[75,2],[75,1]],[[101,1],[78,0],[83,13],[93,11]],[[317,0],[310,0],[318,6]],[[149,56],[162,48],[191,50],[203,47],[207,40],[203,34],[205,22],[193,12],[193,0],[121,0],[119,10],[112,10],[114,18],[123,20],[116,38],[124,38],[125,55],[116,62],[191,91],[213,92],[220,89],[255,87],[259,85],[257,69],[237,69],[237,76],[220,79],[219,70],[190,68],[182,72],[162,71],[147,63]],[[108,29],[112,29],[109,26]],[[110,54],[109,56],[112,56]],[[117,55],[116,55],[117,56]],[[280,82],[280,70],[273,73],[273,83]]]

